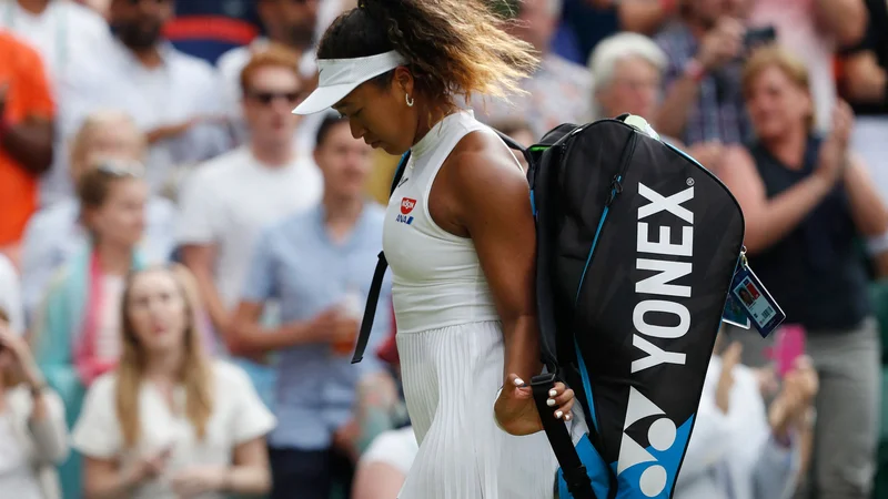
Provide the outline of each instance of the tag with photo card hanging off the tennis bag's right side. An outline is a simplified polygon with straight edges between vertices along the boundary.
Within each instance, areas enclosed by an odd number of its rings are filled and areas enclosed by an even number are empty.
[[[739,317],[743,315],[745,317]],[[734,273],[728,289],[728,299],[722,319],[748,329],[755,326],[763,338],[767,338],[784,320],[786,314],[749,268],[746,248],[740,253],[740,262]]]

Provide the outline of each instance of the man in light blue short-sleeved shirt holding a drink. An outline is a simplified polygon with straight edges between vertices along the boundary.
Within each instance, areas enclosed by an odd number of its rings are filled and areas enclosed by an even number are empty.
[[[323,121],[314,152],[323,200],[260,237],[233,318],[234,353],[278,353],[279,426],[269,437],[272,499],[293,497],[294,490],[303,499],[327,499],[334,482],[351,489],[355,388],[382,371],[372,356],[351,365],[385,213],[364,198],[371,152],[352,138],[347,120]],[[280,303],[282,324],[273,329],[261,324],[271,298]],[[390,285],[381,299],[373,347],[391,329]]]

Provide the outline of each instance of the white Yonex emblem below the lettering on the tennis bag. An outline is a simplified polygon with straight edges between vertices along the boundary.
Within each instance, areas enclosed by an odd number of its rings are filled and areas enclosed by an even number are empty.
[[[648,462],[649,465],[638,478],[638,488],[645,496],[656,497],[666,488],[668,472],[647,449],[626,435],[626,429],[632,425],[650,416],[660,417],[650,424],[647,430],[647,440],[654,449],[660,452],[666,451],[675,444],[677,431],[675,422],[667,418],[663,409],[648,400],[640,391],[629,387],[629,403],[626,407],[626,420],[623,422],[623,439],[619,445],[617,475],[633,466]]]

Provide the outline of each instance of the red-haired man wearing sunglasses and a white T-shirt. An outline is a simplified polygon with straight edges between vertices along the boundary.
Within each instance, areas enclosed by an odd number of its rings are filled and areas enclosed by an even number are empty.
[[[299,57],[279,45],[253,55],[241,72],[250,142],[200,165],[180,195],[176,241],[218,334],[229,326],[262,227],[321,198],[321,172],[293,139],[299,116],[291,110],[303,92],[297,64]],[[266,318],[275,308],[269,309]],[[245,360],[242,367],[271,404],[271,368]]]

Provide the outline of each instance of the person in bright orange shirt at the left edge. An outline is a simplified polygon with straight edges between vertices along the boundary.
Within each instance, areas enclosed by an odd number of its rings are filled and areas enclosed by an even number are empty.
[[[40,55],[0,32],[0,252],[16,263],[38,176],[52,164],[53,114]]]

